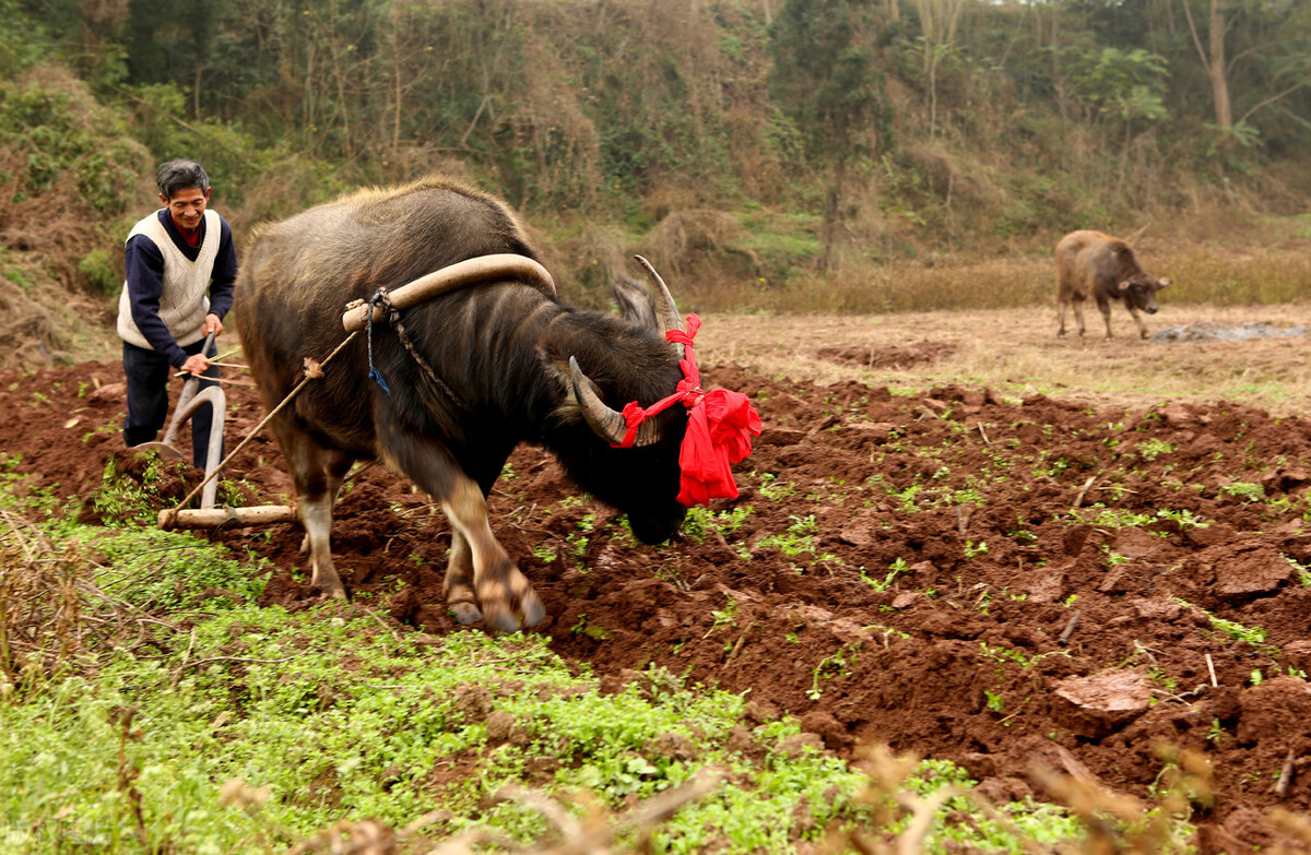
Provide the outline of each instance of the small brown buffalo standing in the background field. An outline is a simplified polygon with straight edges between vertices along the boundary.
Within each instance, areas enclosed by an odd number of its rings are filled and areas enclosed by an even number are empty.
[[[1124,299],[1134,316],[1141,336],[1147,337],[1147,327],[1138,309],[1155,315],[1156,291],[1169,285],[1169,279],[1143,273],[1129,244],[1101,232],[1070,232],[1057,244],[1055,257],[1057,313],[1061,320],[1057,336],[1065,336],[1065,311],[1071,303],[1074,316],[1079,319],[1079,334],[1083,336],[1083,302],[1091,296],[1097,300],[1101,317],[1106,321],[1106,338],[1110,338],[1110,300],[1118,299]]]

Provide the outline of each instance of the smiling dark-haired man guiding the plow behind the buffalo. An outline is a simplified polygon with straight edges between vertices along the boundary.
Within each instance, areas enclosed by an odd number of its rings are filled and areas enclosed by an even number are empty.
[[[164,207],[127,236],[127,277],[118,300],[127,446],[152,442],[164,426],[169,378],[176,371],[219,376],[218,366],[210,365],[218,348],[201,350],[206,336],[223,332],[237,274],[232,227],[216,211],[206,210],[210,177],[205,168],[191,160],[170,160],[160,167],[157,184]],[[208,459],[212,410],[201,407],[190,420],[193,462],[201,469]]]

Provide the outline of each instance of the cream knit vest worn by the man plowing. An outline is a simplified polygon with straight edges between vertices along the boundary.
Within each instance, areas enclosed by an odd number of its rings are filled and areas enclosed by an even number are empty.
[[[201,253],[195,261],[184,256],[169,237],[164,223],[160,222],[159,211],[134,226],[127,240],[136,235],[146,236],[164,254],[160,320],[182,348],[201,341],[205,338],[205,316],[210,311],[208,290],[214,275],[214,260],[219,256],[219,241],[223,239],[219,215],[205,211],[205,240],[201,241]],[[132,303],[127,296],[126,281],[123,292],[118,298],[118,337],[138,348],[151,349],[151,344],[132,320]]]

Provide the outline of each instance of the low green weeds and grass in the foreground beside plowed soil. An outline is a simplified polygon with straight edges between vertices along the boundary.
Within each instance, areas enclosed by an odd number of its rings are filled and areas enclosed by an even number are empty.
[[[261,607],[264,568],[224,547],[80,526],[39,493],[0,489],[0,511],[5,851],[326,851],[379,827],[404,851],[503,850],[564,834],[552,817],[619,824],[656,799],[682,810],[616,825],[615,851],[856,846],[922,812],[918,851],[1084,838],[1054,805],[988,813],[950,763],[880,755],[890,772],[791,717],[749,729],[741,695],[659,669],[603,691],[541,636]],[[794,522],[800,547],[813,521]],[[855,656],[825,660],[817,690]]]

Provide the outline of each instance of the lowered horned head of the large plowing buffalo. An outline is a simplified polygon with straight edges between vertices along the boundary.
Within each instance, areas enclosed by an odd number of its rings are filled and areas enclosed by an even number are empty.
[[[645,260],[641,260],[646,265]],[[607,351],[551,354],[566,386],[569,400],[562,417],[576,426],[574,441],[557,455],[569,476],[600,501],[628,514],[633,535],[644,543],[663,543],[678,534],[687,507],[678,501],[679,452],[687,431],[687,409],[673,405],[644,421],[631,447],[624,441],[627,422],[620,412],[629,401],[650,407],[673,395],[683,379],[683,346],[665,340],[669,329],[684,329],[678,306],[650,265],[649,306],[633,303],[633,283],[619,294],[624,321],[611,325]],[[649,309],[649,311],[648,311]],[[548,348],[555,350],[553,348]],[[561,365],[566,359],[566,366]],[[616,365],[616,361],[621,363]],[[589,366],[585,371],[582,366]]]

